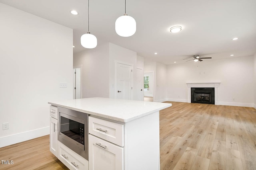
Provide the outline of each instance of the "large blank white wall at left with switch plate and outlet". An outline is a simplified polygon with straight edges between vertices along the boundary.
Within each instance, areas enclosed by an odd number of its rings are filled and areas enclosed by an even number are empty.
[[[0,147],[49,134],[48,102],[72,99],[73,31],[0,3]],[[67,88],[59,88],[66,82]],[[2,130],[2,123],[9,129]]]

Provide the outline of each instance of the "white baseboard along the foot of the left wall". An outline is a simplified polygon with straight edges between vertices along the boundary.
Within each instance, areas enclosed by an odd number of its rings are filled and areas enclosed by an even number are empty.
[[[16,143],[28,141],[37,137],[45,136],[50,134],[50,127],[43,127],[40,129],[35,129],[32,131],[26,131],[22,133],[17,133],[10,136],[0,137],[0,148],[13,145]]]

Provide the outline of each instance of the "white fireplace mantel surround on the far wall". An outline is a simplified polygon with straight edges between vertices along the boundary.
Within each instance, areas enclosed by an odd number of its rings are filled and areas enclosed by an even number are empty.
[[[220,82],[187,82],[186,84],[188,86],[188,103],[191,103],[191,88],[214,87],[215,105],[219,105],[218,88],[219,88]]]

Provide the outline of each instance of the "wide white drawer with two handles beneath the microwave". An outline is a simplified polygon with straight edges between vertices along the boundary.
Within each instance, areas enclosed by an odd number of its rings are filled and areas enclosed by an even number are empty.
[[[70,170],[88,170],[88,160],[66,147],[60,141],[58,159],[65,164]]]

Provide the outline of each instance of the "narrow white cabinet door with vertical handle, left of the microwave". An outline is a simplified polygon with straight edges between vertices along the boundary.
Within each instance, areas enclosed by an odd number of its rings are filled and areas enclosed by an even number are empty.
[[[58,120],[50,117],[50,151],[58,157]]]

